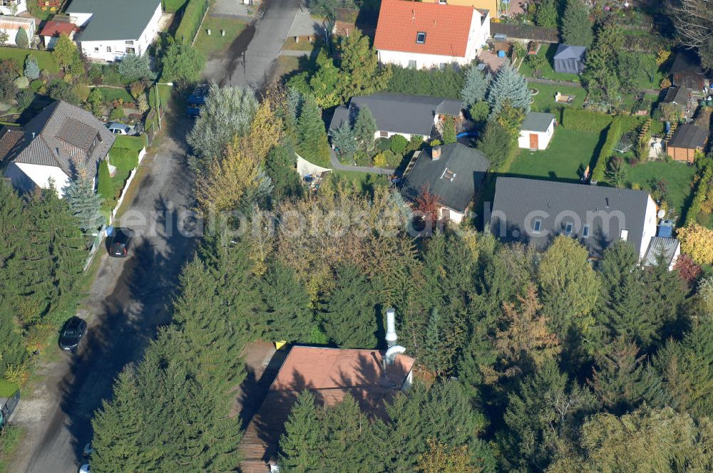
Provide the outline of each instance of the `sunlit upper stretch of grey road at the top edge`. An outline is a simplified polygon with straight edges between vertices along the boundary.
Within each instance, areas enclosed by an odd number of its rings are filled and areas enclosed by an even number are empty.
[[[299,10],[298,0],[267,0],[260,19],[248,25],[224,57],[207,64],[205,76],[221,86],[260,90],[277,70],[277,56]]]

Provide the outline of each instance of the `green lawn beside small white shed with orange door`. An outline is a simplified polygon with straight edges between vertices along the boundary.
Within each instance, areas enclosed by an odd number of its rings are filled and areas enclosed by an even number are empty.
[[[546,150],[520,150],[509,174],[579,180],[580,172],[592,162],[599,141],[600,133],[558,126]]]

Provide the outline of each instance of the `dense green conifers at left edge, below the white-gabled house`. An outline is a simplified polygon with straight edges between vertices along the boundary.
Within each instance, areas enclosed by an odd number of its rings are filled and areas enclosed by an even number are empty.
[[[85,244],[53,187],[21,197],[0,184],[0,378],[24,371],[34,334],[73,311]]]

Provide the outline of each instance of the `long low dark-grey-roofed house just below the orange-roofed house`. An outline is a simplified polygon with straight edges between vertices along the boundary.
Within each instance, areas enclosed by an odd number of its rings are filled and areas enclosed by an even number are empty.
[[[363,107],[371,110],[379,132],[429,136],[436,115],[458,116],[463,102],[428,95],[381,92],[366,97],[353,97],[349,105],[340,105],[334,110],[329,130],[336,130],[342,123],[353,124],[359,109]]]

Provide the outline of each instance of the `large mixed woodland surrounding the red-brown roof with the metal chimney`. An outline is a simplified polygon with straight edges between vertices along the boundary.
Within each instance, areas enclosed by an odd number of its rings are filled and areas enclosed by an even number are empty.
[[[351,397],[324,407],[303,393],[280,442],[284,471],[709,468],[705,271],[644,268],[625,241],[593,266],[568,237],[543,252],[467,226],[414,239],[394,190],[327,179],[303,194],[291,172],[307,100],[272,90],[199,173],[199,208],[250,224],[212,222],[173,323],[96,415],[93,469],[235,469],[230,393],[245,344],[382,348],[386,307],[423,379],[376,417]]]

